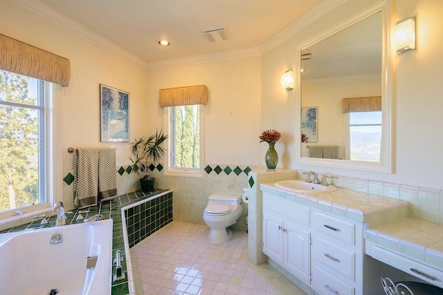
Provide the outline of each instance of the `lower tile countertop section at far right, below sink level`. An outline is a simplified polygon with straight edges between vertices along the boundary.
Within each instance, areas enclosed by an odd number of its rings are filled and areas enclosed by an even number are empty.
[[[443,269],[443,224],[407,217],[366,229],[365,240]]]

